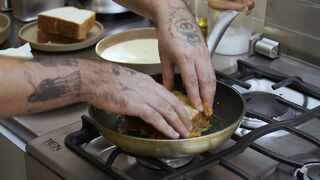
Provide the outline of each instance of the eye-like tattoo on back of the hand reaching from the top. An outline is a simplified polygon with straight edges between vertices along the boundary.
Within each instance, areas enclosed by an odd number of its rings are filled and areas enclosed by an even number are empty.
[[[169,15],[169,32],[173,38],[181,39],[192,46],[201,43],[200,29],[195,20],[187,17],[187,9],[177,7]]]

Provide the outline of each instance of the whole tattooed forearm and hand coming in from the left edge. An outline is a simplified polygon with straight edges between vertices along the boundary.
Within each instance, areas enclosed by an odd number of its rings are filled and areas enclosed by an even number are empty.
[[[0,118],[76,102],[141,117],[170,138],[189,137],[192,123],[176,96],[150,76],[78,58],[0,58]]]

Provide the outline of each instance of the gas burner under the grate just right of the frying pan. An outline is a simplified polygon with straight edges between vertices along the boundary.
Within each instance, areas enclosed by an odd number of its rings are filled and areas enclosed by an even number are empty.
[[[246,100],[246,111],[262,114],[277,121],[294,117],[294,110],[280,104],[276,98],[281,97],[275,94],[252,91],[243,94],[243,97]],[[266,123],[256,118],[244,117],[241,125],[248,129],[256,129]]]

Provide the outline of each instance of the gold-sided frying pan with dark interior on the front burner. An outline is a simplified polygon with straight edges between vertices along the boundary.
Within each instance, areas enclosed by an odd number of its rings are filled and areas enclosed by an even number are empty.
[[[153,76],[161,83],[161,75]],[[175,90],[184,91],[179,75],[175,77]],[[92,123],[112,144],[122,150],[140,156],[157,158],[185,157],[214,149],[225,142],[238,128],[244,116],[244,101],[233,88],[218,82],[212,127],[200,137],[188,139],[148,139],[119,132],[125,116],[107,113],[96,107],[89,107]]]

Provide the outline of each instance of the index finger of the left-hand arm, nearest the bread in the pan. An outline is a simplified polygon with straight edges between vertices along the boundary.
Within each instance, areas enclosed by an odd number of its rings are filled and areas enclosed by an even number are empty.
[[[157,88],[157,94],[162,99],[166,99],[166,101],[171,105],[174,111],[178,114],[179,119],[182,121],[184,126],[191,131],[192,130],[192,122],[188,117],[187,111],[184,109],[182,103],[179,99],[171,92],[167,91],[163,86],[158,84],[159,88]]]

